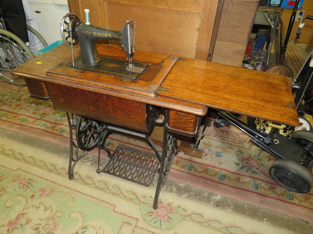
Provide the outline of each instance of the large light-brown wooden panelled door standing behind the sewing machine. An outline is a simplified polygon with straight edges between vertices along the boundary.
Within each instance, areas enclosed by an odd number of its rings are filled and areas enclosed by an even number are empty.
[[[69,9],[99,27],[136,22],[136,49],[207,60],[220,0],[68,0]],[[113,43],[115,44],[115,43]]]

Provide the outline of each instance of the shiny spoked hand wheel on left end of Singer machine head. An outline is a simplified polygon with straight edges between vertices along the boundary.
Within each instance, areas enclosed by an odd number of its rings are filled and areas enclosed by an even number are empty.
[[[64,42],[67,45],[71,45],[71,36],[72,32],[72,42],[73,45],[78,43],[78,34],[75,32],[75,27],[80,24],[80,19],[73,13],[67,13],[61,20],[61,36]]]

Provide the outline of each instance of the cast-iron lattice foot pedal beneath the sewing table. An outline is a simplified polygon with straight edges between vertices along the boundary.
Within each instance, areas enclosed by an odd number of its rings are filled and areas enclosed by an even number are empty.
[[[158,169],[159,160],[155,154],[119,145],[101,172],[150,186]]]

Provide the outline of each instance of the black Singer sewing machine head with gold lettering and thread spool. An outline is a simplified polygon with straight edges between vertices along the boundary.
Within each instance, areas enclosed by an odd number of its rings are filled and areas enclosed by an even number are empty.
[[[80,43],[81,57],[73,61],[72,67],[136,79],[148,64],[132,62],[135,52],[135,22],[127,21],[120,31],[114,31],[91,25],[88,9],[85,10],[85,18],[86,22],[83,23],[75,14],[68,13],[61,21],[63,40],[71,46]],[[128,65],[125,66],[125,61],[117,59],[115,62],[119,66],[113,68],[115,71],[107,71],[104,64],[112,63],[112,59],[108,61],[107,58],[99,56],[95,46],[96,39],[119,41],[126,52]]]

